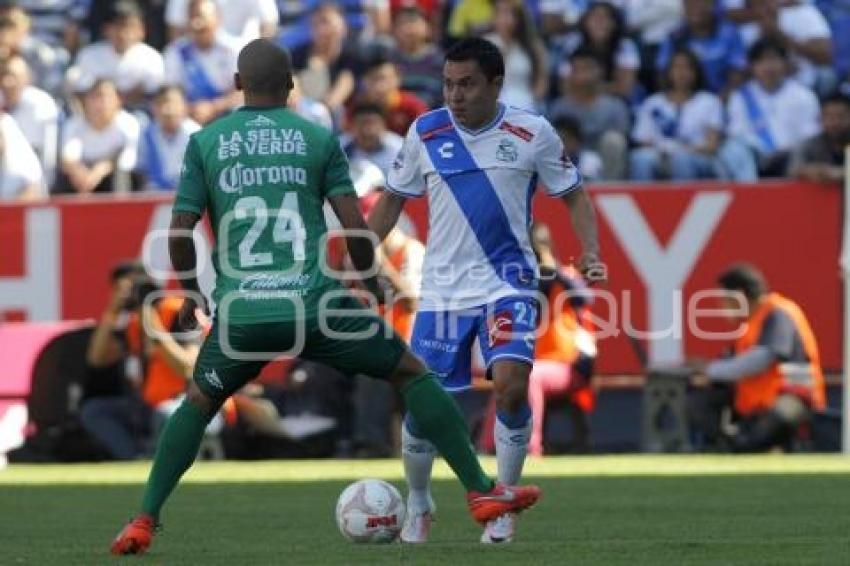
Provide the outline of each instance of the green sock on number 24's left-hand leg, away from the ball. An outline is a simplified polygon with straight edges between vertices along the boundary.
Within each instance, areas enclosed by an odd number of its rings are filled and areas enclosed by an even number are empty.
[[[201,410],[188,401],[183,401],[168,419],[156,447],[142,512],[159,519],[165,500],[195,461],[208,422]]]

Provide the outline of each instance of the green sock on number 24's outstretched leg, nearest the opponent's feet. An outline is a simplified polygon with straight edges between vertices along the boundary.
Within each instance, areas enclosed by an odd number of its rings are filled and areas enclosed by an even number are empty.
[[[417,432],[440,451],[467,491],[487,492],[493,481],[487,477],[472,448],[466,421],[457,404],[433,373],[417,377],[402,388],[407,410]]]

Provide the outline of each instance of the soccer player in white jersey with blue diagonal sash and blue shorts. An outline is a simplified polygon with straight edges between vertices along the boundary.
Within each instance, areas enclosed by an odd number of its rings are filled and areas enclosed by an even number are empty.
[[[604,276],[596,217],[549,122],[499,102],[504,60],[487,40],[449,50],[443,68],[446,107],[411,126],[370,215],[379,239],[408,198],[429,198],[429,235],[411,346],[450,391],[471,385],[477,337],[492,379],[499,481],[519,481],[531,434],[528,376],[537,326],[537,265],[529,241],[538,182],[563,200],[582,245],[580,267]],[[436,451],[408,415],[402,454],[409,486],[405,542],[427,540],[435,511],[430,495]],[[482,542],[510,541],[515,517],[485,525]]]

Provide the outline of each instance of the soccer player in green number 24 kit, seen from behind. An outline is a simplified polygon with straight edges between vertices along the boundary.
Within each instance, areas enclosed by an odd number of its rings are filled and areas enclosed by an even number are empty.
[[[236,87],[246,105],[192,135],[169,231],[171,262],[188,292],[184,328],[207,311],[196,272],[192,229],[206,213],[215,234],[217,312],[195,364],[186,400],[166,424],[141,513],[112,543],[113,554],[142,553],[160,510],[192,465],[204,429],[221,404],[276,353],[288,352],[400,388],[421,434],[441,452],[484,523],[533,505],[535,486],[494,483],[478,462],[466,423],[433,373],[384,322],[323,269],[322,204],[346,232],[361,274],[374,263],[374,238],[357,206],[336,138],[285,108],[292,88],[286,51],[258,39],[239,54]],[[377,295],[374,276],[364,286]]]

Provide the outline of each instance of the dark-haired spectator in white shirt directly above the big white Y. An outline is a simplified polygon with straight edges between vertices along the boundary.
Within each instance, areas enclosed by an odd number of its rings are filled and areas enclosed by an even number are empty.
[[[687,49],[676,51],[664,83],[664,90],[647,98],[637,112],[632,138],[640,147],[631,152],[631,179],[717,177],[723,105],[717,95],[704,90],[696,55]]]

